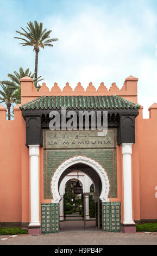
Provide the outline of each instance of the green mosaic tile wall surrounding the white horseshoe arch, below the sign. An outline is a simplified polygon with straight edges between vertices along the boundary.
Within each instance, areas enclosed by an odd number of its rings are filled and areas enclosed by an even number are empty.
[[[110,129],[111,130],[111,129]],[[116,129],[114,130],[114,145],[116,142]],[[44,197],[51,199],[51,179],[55,169],[62,162],[73,156],[86,156],[101,164],[108,173],[110,180],[110,198],[117,197],[117,171],[116,171],[116,147],[113,148],[75,148],[69,149],[47,149],[45,148],[46,131],[43,132],[44,139]]]

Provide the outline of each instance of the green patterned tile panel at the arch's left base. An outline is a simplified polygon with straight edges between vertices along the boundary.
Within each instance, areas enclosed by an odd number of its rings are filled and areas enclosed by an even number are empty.
[[[59,204],[41,204],[41,233],[59,232]]]

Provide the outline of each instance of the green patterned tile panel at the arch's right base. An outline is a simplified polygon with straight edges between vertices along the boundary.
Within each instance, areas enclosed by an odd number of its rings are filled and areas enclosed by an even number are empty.
[[[102,230],[121,231],[121,203],[102,203]]]

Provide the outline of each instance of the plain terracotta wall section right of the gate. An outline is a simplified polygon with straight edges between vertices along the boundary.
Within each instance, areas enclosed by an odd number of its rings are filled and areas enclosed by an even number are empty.
[[[149,108],[150,118],[139,119],[141,219],[157,219],[157,104]]]

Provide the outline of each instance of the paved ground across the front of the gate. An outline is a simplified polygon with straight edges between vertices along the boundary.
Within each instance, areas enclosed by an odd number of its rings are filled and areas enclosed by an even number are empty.
[[[38,236],[16,236],[1,240],[0,245],[157,245],[157,235],[103,231],[61,232]]]

